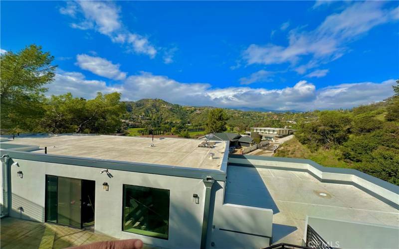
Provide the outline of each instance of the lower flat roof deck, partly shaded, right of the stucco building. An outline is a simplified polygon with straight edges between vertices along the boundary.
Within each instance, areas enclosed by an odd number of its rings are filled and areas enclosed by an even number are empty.
[[[306,216],[399,226],[399,211],[352,186],[307,172],[229,165],[225,203],[273,210],[273,244],[301,245]]]

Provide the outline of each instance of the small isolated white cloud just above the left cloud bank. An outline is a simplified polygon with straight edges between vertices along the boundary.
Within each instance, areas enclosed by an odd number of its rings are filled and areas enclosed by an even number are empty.
[[[126,78],[126,73],[119,70],[119,64],[113,64],[111,61],[104,58],[87,54],[78,54],[76,60],[76,65],[93,74],[114,80],[124,80]]]

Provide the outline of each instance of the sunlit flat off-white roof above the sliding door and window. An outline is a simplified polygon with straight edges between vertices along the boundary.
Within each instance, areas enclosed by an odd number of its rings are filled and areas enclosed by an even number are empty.
[[[156,139],[111,135],[59,135],[21,137],[5,143],[38,145],[33,153],[90,157],[138,163],[153,163],[202,169],[220,169],[226,142],[214,148],[201,148],[202,140],[183,138]],[[154,143],[155,146],[150,146]],[[214,153],[209,159],[209,153]]]

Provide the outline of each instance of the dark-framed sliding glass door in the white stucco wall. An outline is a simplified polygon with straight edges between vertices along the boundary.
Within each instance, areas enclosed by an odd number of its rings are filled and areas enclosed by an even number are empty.
[[[95,181],[46,176],[46,222],[82,228],[94,225]]]

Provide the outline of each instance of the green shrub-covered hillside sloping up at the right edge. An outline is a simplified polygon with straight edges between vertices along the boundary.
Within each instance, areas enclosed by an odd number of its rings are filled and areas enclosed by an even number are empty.
[[[346,111],[324,111],[302,123],[275,156],[355,168],[399,185],[399,96]]]

